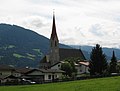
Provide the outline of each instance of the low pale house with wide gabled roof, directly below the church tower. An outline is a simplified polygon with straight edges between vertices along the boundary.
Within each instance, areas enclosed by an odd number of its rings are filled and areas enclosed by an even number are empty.
[[[64,71],[56,69],[34,69],[26,73],[33,81],[52,82],[59,79]],[[36,79],[37,78],[37,79]]]

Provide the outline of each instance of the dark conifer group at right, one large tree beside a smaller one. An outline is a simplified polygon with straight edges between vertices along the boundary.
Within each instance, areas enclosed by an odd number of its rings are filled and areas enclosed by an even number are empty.
[[[117,64],[117,58],[113,50],[110,63],[106,59],[106,55],[102,51],[99,44],[92,49],[90,54],[89,72],[91,76],[106,76],[119,73],[120,65]]]

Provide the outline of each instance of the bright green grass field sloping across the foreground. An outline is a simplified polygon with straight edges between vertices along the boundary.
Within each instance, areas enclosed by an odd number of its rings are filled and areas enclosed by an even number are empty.
[[[0,91],[120,91],[120,76],[37,85],[0,86]]]

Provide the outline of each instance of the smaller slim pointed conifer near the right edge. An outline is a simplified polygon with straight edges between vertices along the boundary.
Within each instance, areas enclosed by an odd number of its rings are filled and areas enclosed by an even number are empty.
[[[116,73],[116,72],[117,72],[117,58],[113,51],[113,55],[110,62],[110,73]]]

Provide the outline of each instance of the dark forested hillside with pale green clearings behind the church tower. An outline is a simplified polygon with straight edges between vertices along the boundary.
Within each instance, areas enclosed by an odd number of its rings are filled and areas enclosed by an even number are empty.
[[[71,48],[60,44],[62,48]],[[0,64],[38,67],[49,51],[49,39],[16,25],[0,24]]]

